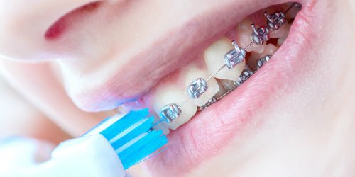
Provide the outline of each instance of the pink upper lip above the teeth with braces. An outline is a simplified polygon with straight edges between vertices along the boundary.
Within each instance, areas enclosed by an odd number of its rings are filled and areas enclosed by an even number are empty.
[[[72,85],[68,93],[77,106],[90,112],[111,110],[121,103],[133,101],[164,76],[194,59],[208,45],[253,11],[283,1],[219,1],[218,6],[216,1],[210,2],[212,5],[203,8],[204,11],[200,14],[191,16],[174,28],[164,30],[159,38],[152,40],[149,45],[141,46],[138,43],[130,47],[136,50],[130,50],[133,52],[127,52],[128,55],[120,53],[116,56],[130,59],[103,84],[89,88],[88,85],[92,85],[92,77],[87,74],[75,80],[75,83],[68,84]],[[192,5],[199,4],[200,1],[192,1]],[[116,61],[123,59],[115,58]],[[73,91],[75,87],[82,86],[86,86],[84,91],[80,89]]]

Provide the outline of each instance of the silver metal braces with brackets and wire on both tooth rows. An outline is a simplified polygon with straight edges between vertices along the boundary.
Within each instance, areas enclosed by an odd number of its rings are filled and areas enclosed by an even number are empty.
[[[239,47],[235,41],[231,42],[231,45],[234,46],[234,49],[230,50],[229,52],[224,55],[224,65],[217,70],[217,72],[214,72],[211,76],[209,76],[206,80],[203,78],[198,78],[195,79],[195,81],[192,81],[192,83],[187,87],[187,93],[189,94],[189,97],[187,97],[180,105],[177,105],[175,103],[165,105],[163,108],[160,109],[160,119],[170,123],[175,119],[178,119],[182,113],[181,107],[184,105],[187,101],[190,99],[197,99],[199,98],[205,91],[208,89],[207,82],[212,79],[217,73],[222,71],[225,67],[228,69],[232,69],[236,67],[237,64],[244,62],[244,59],[246,57],[246,50],[251,47],[251,45],[256,44],[256,45],[262,45],[264,42],[268,41],[270,39],[270,31],[278,30],[281,25],[283,25],[286,21],[285,18],[285,13],[288,13],[291,8],[293,7],[296,8],[301,8],[302,5],[299,3],[293,3],[290,7],[288,7],[285,11],[281,12],[275,12],[272,14],[269,14],[267,12],[264,13],[264,16],[267,18],[267,26],[261,26],[261,27],[256,27],[256,25],[251,24],[251,28],[253,28],[253,33],[251,34],[251,43],[247,45],[244,49]],[[271,55],[266,55],[261,59],[258,59],[257,61],[257,68],[260,69],[263,64],[268,62],[268,60],[271,59]],[[255,72],[256,72],[255,71]],[[224,93],[222,96],[219,96],[218,98],[212,97],[209,99],[209,101],[205,104],[202,105],[198,108],[198,110],[204,110],[207,108],[209,105],[212,105],[213,103],[216,103],[220,99],[224,98],[228,93],[231,91],[234,91],[237,87],[241,86],[247,79],[249,79],[255,72],[251,71],[249,67],[244,68],[243,72],[241,72],[241,76],[239,76],[239,79],[236,81],[233,81],[234,87]]]

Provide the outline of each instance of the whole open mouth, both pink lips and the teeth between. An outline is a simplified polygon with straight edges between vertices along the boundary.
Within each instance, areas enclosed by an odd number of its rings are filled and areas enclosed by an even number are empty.
[[[225,147],[253,120],[258,108],[267,107],[278,89],[285,90],[285,86],[302,74],[299,68],[307,58],[302,51],[311,47],[307,39],[315,36],[315,32],[310,28],[314,2],[300,4],[302,10],[293,6],[285,13],[287,21],[278,30],[270,31],[270,39],[262,45],[254,41],[250,46],[251,23],[258,31],[259,27],[268,26],[264,11],[283,12],[293,3],[255,0],[206,5],[202,9],[207,10],[189,14],[193,18],[167,25],[170,29],[163,34],[143,33],[144,39],[130,40],[119,48],[118,52],[123,54],[121,59],[115,59],[119,62],[108,60],[104,67],[114,74],[107,74],[109,79],[100,78],[104,81],[100,80],[99,85],[91,84],[99,71],[81,66],[79,75],[86,76],[71,79],[73,83],[68,85],[81,89],[85,86],[87,90],[71,89],[69,93],[83,110],[110,110],[123,104],[129,109],[151,108],[157,118],[162,117],[162,108],[176,104],[181,113],[157,127],[167,134],[170,132],[168,150],[148,161],[148,165],[151,171],[159,171],[155,176],[187,173]],[[129,25],[136,26],[134,22]],[[229,69],[224,56],[237,48],[232,40],[241,50],[249,47],[244,59]],[[195,79],[204,79],[208,88],[203,89],[204,82]],[[192,81],[200,84],[195,86],[195,92],[200,91],[196,98],[187,91]],[[169,116],[171,113],[167,112]]]

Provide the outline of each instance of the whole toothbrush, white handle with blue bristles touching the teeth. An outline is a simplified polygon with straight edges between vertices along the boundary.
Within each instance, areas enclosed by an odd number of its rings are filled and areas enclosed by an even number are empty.
[[[107,118],[82,137],[60,143],[50,160],[10,176],[125,176],[126,169],[168,143],[163,131],[153,130],[148,114],[143,109]]]

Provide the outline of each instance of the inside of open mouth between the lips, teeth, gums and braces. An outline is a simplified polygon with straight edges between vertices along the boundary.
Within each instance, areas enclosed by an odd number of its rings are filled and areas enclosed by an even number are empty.
[[[288,3],[251,14],[207,47],[204,55],[165,76],[143,103],[153,107],[166,127],[176,130],[261,69],[283,45],[300,8],[298,3]],[[261,23],[263,17],[267,25],[251,20]]]

